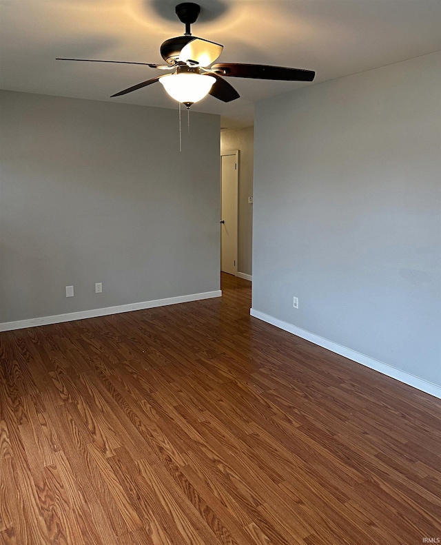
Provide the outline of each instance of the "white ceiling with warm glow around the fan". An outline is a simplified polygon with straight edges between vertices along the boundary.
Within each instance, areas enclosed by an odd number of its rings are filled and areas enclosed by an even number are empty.
[[[196,0],[197,1],[197,0]],[[110,99],[161,72],[137,65],[55,57],[162,63],[159,46],[183,34],[178,0],[0,0],[0,88],[176,108],[161,85]],[[441,50],[441,0],[200,0],[192,34],[222,43],[219,61],[316,70],[314,83],[229,78],[240,99],[212,96],[193,110],[253,124],[254,102]]]

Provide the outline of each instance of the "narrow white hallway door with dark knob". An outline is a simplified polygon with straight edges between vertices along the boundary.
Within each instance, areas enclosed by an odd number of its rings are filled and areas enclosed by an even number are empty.
[[[238,155],[221,156],[220,171],[220,269],[237,274]]]

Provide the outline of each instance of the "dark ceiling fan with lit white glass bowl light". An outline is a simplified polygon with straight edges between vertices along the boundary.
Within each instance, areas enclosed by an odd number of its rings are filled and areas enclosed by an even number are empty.
[[[192,36],[190,25],[196,22],[201,7],[196,3],[185,2],[176,6],[179,20],[185,24],[185,34],[165,40],[161,45],[161,56],[167,63],[134,63],[127,61],[99,61],[95,59],[57,59],[57,61],[87,61],[93,63],[141,64],[172,70],[156,78],[147,79],[132,85],[113,96],[136,91],[159,81],[173,99],[189,108],[207,94],[223,102],[231,102],[239,98],[238,92],[222,76],[252,79],[272,79],[278,81],[312,81],[315,72],[299,68],[283,68],[262,64],[214,63],[223,50],[223,45]],[[210,66],[211,65],[211,66]]]

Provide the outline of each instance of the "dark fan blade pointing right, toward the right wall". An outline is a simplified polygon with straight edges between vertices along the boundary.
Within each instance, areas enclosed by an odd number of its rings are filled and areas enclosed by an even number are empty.
[[[316,72],[300,68],[283,68],[265,64],[217,63],[212,70],[220,76],[235,78],[276,79],[279,81],[312,81]]]

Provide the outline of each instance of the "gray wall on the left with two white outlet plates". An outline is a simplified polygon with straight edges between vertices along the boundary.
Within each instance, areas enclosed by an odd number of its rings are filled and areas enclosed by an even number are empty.
[[[219,289],[218,116],[191,112],[180,153],[177,110],[0,105],[0,322]]]

